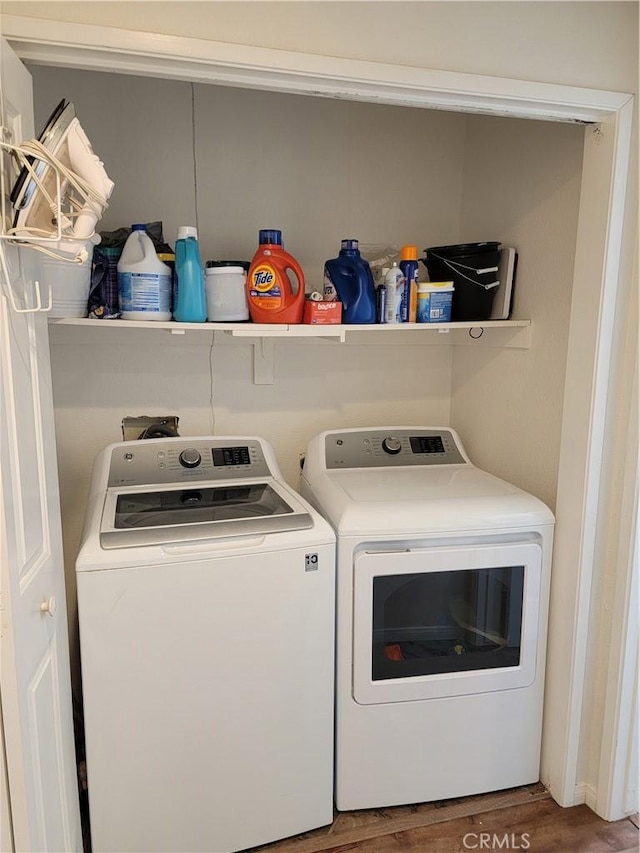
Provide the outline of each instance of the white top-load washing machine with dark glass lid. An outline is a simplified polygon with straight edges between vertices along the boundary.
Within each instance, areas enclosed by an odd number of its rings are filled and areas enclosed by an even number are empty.
[[[106,448],[77,583],[96,853],[332,821],[335,536],[265,441]]]

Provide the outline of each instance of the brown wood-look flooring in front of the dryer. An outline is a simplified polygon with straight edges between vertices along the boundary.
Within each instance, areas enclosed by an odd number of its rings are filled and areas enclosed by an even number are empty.
[[[336,812],[330,826],[255,853],[637,853],[638,816],[563,809],[541,784],[412,806]]]

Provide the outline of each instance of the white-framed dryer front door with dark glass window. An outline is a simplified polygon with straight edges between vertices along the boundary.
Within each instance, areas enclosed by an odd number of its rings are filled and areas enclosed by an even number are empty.
[[[356,701],[403,702],[530,685],[540,571],[534,543],[357,555]]]

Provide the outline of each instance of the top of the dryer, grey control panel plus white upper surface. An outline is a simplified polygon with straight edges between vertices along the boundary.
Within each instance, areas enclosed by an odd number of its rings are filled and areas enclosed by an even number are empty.
[[[553,523],[542,501],[471,463],[449,428],[324,432],[307,448],[303,494],[340,534],[487,531]]]

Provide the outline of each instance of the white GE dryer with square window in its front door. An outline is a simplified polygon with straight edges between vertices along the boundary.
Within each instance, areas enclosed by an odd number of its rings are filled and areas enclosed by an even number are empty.
[[[449,428],[323,432],[301,491],[338,540],[337,807],[537,781],[549,509]]]

